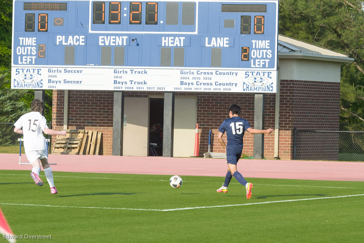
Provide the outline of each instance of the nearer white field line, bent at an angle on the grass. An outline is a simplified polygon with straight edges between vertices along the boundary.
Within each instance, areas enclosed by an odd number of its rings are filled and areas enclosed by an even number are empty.
[[[0,204],[1,205],[37,206],[37,207],[55,207],[55,208],[118,209],[118,210],[137,210],[137,211],[159,211],[159,212],[166,212],[166,211],[180,211],[180,210],[189,210],[189,209],[237,207],[237,206],[268,204],[268,203],[278,203],[278,202],[296,202],[296,201],[319,200],[319,199],[342,198],[342,197],[357,197],[357,196],[364,196],[364,194],[335,196],[335,197],[302,198],[302,199],[281,200],[281,201],[252,202],[252,203],[245,203],[245,204],[216,205],[216,206],[205,206],[205,207],[171,208],[171,209],[78,207],[78,206],[61,206],[61,205],[16,204],[16,203],[1,203],[1,202],[0,202]]]

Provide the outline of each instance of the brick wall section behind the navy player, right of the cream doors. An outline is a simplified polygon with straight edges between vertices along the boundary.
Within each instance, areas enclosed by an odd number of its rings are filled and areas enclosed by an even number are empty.
[[[265,95],[264,129],[274,128],[274,94]],[[273,103],[272,103],[273,102]],[[254,94],[246,93],[203,93],[197,99],[197,123],[201,128],[200,155],[208,150],[209,130],[212,130],[211,152],[225,153],[226,151],[217,140],[218,128],[222,121],[229,118],[229,106],[236,103],[241,106],[240,116],[249,121],[254,128]],[[223,136],[226,143],[226,136]],[[249,132],[244,136],[243,153],[253,155],[253,135]],[[273,158],[274,133],[265,135],[264,155]]]

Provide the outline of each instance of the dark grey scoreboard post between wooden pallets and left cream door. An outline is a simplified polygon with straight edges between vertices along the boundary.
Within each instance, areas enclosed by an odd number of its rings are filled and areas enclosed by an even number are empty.
[[[112,155],[123,156],[124,91],[114,91],[112,119]]]

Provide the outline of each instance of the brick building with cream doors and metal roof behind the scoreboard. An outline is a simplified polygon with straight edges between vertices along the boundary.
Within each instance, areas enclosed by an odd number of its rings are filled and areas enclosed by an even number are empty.
[[[294,127],[339,130],[340,67],[351,62],[347,55],[278,36],[279,91],[265,95],[264,116],[264,129],[275,131],[264,136],[265,158],[293,158]],[[162,140],[163,92],[125,91],[124,97],[123,155],[147,156],[149,143]],[[217,129],[232,103],[242,106],[241,116],[254,128],[254,93],[175,92],[173,156],[193,155],[195,124],[200,128],[200,156],[207,152],[209,130],[211,152],[225,152],[217,141]],[[113,91],[53,91],[52,128],[102,132],[101,155],[113,154],[113,115]],[[243,153],[253,155],[253,142],[247,132]],[[161,155],[158,148],[157,152]]]

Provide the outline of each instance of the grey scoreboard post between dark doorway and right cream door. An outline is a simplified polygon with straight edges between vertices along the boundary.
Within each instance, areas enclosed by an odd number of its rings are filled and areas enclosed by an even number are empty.
[[[163,157],[173,157],[174,92],[164,93]]]

